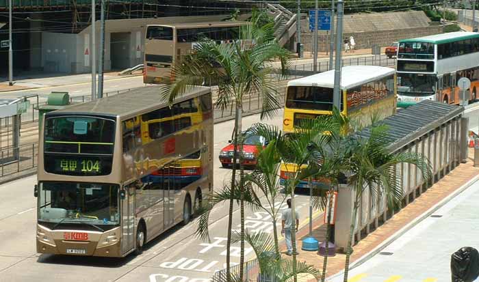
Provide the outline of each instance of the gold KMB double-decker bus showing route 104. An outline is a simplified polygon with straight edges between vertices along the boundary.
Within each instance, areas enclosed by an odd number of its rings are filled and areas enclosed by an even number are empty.
[[[159,100],[144,87],[44,115],[38,253],[124,257],[190,221],[212,191],[211,91]]]

